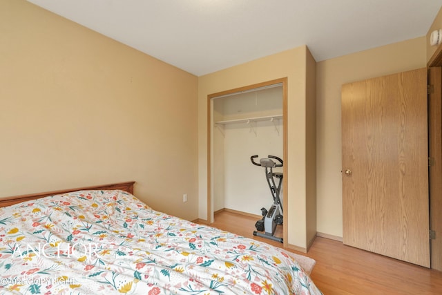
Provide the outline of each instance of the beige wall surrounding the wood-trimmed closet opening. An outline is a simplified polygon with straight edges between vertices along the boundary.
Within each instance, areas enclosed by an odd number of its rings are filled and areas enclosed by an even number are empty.
[[[200,218],[206,219],[207,208],[207,95],[267,82],[282,77],[288,78],[288,242],[305,248],[306,242],[306,46],[233,66],[198,79],[198,150],[200,184]],[[260,212],[257,212],[259,214]]]

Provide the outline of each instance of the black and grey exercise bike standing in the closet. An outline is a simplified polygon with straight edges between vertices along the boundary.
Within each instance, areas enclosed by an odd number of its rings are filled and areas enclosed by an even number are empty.
[[[261,209],[262,219],[256,222],[256,231],[253,231],[253,236],[260,236],[262,238],[276,240],[277,242],[283,242],[282,238],[274,236],[276,225],[282,225],[282,200],[280,199],[282,173],[273,172],[273,167],[282,167],[283,162],[275,155],[268,155],[268,157],[269,158],[260,159],[259,164],[254,160],[255,158],[258,158],[258,155],[252,155],[250,157],[253,165],[265,168],[265,178],[267,184],[269,184],[271,197],[273,198],[273,204],[271,204],[269,211],[265,208]],[[276,164],[271,159],[277,160],[280,164]],[[275,179],[278,180],[278,185],[276,184]],[[264,234],[260,231],[264,231]]]

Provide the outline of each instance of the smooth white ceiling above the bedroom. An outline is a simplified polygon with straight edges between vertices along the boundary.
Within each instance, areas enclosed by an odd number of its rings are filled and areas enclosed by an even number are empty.
[[[307,45],[316,61],[427,34],[442,0],[28,0],[200,76]]]

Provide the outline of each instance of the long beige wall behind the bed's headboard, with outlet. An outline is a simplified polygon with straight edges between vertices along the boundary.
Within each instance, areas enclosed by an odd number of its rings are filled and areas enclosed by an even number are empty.
[[[198,218],[198,77],[24,0],[0,28],[0,198],[135,180]]]

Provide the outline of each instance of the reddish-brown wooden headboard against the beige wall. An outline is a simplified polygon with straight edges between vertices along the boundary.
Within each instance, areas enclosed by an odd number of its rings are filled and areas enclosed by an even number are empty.
[[[46,191],[44,193],[31,193],[28,195],[0,198],[0,207],[6,207],[12,204],[17,204],[19,202],[24,202],[29,200],[36,200],[47,196],[60,195],[61,193],[70,193],[72,191],[90,191],[96,189],[98,190],[121,189],[122,191],[127,191],[128,193],[133,194],[133,184],[135,184],[135,181],[104,184],[93,187],[78,187],[77,189],[61,189],[59,191]]]

